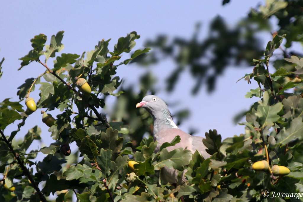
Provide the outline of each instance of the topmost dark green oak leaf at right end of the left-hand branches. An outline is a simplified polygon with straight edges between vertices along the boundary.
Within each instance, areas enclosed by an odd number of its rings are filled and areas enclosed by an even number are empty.
[[[129,53],[136,45],[134,40],[138,38],[140,38],[140,35],[137,35],[135,31],[132,31],[126,37],[120,37],[114,47],[114,55],[120,55],[123,52]]]

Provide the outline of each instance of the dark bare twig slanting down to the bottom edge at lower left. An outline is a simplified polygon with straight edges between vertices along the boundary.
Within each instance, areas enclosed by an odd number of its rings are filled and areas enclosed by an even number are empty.
[[[8,142],[8,140],[6,139],[5,135],[3,134],[2,130],[0,130],[0,133],[3,137],[3,140],[5,141],[5,143],[8,145],[10,151],[13,153],[14,157],[16,158],[16,160],[18,161],[18,164],[20,165],[21,169],[24,172],[24,175],[26,175],[28,177],[28,180],[31,181],[32,186],[34,187],[34,189],[36,190],[36,192],[38,193],[40,200],[43,202],[47,202],[47,200],[45,199],[44,195],[42,194],[41,190],[39,189],[39,187],[36,185],[36,182],[34,180],[34,178],[32,177],[32,175],[29,173],[27,167],[24,166],[23,162],[21,161],[19,155],[16,154],[14,148],[12,147],[12,144],[10,144]]]

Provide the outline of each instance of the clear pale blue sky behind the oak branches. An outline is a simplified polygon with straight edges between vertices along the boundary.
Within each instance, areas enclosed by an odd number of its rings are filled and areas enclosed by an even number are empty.
[[[90,51],[103,38],[109,39],[109,48],[112,49],[118,38],[126,36],[131,31],[137,31],[138,39],[135,49],[143,48],[147,39],[154,39],[158,34],[166,34],[171,38],[175,36],[190,38],[195,23],[201,22],[201,40],[208,35],[208,24],[215,16],[225,18],[230,27],[242,17],[245,17],[251,7],[263,1],[232,0],[222,6],[222,1],[2,1],[0,3],[0,59],[5,57],[2,64],[4,72],[0,79],[0,101],[12,98],[18,101],[17,87],[26,78],[37,77],[45,68],[35,62],[17,71],[20,60],[32,48],[30,39],[39,33],[51,38],[53,34],[64,30],[62,43],[65,48],[61,53],[76,53]],[[264,35],[264,47],[271,36]],[[228,40],[228,39],[227,39]],[[49,41],[46,42],[49,44]],[[57,54],[58,55],[58,54]],[[164,85],[164,80],[175,67],[171,61],[164,61],[149,69],[158,78],[158,86]],[[118,76],[125,80],[125,85],[136,84],[139,75],[146,68],[136,65],[120,66]],[[207,94],[202,88],[197,96],[192,97],[190,88],[193,86],[191,76],[183,74],[171,94],[165,91],[158,96],[167,102],[180,101],[180,104],[171,108],[172,113],[179,109],[189,108],[190,118],[180,127],[184,131],[190,128],[198,129],[200,136],[204,136],[209,129],[217,129],[218,133],[226,137],[244,133],[244,126],[235,125],[232,121],[235,114],[247,110],[257,99],[247,99],[245,94],[250,89],[257,88],[257,84],[247,84],[242,80],[236,81],[251,73],[252,68],[228,68],[225,74],[218,78],[216,91]],[[38,91],[31,94],[38,100]],[[24,104],[24,101],[22,101]],[[135,108],[136,103],[134,103]],[[48,127],[41,122],[40,109],[30,115],[26,125],[17,134],[23,138],[28,129],[38,124],[42,128],[42,142],[48,146],[53,142]],[[53,114],[53,116],[55,116]],[[17,127],[18,121],[5,129],[9,135]],[[37,142],[38,143],[38,142]],[[34,145],[32,149],[41,148]]]

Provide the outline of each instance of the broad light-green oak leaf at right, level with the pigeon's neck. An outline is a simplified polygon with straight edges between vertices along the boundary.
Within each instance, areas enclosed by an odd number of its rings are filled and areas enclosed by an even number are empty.
[[[266,125],[274,125],[274,122],[277,122],[280,118],[278,113],[283,108],[282,103],[277,103],[273,106],[264,106],[259,104],[256,115],[259,118],[259,123],[261,128],[265,127]]]

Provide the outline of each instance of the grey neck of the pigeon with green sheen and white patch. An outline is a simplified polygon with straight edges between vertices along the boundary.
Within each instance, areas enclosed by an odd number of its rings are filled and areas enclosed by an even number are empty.
[[[158,139],[158,132],[166,128],[178,128],[172,120],[171,113],[168,109],[162,109],[157,113],[151,113],[154,119],[154,138]]]

